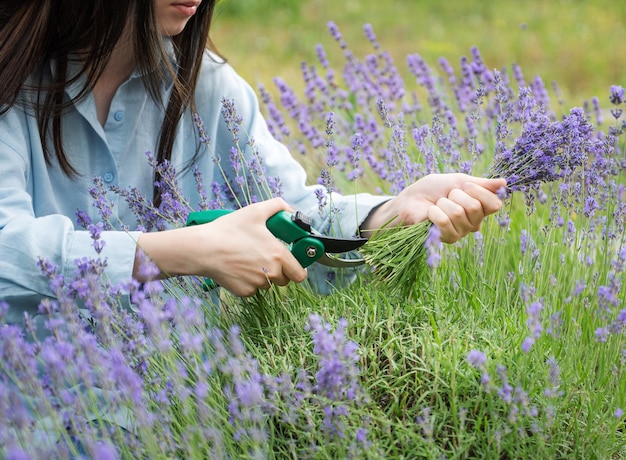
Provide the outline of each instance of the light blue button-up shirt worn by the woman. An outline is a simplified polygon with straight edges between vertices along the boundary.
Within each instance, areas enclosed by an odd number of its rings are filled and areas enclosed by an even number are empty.
[[[51,78],[49,68],[44,67],[43,72],[44,80]],[[77,94],[81,83],[68,88],[68,98]],[[164,100],[168,92],[169,87],[164,85]],[[339,210],[339,218],[331,223],[328,212],[321,216],[315,196],[319,186],[306,185],[303,168],[272,137],[253,89],[228,64],[214,62],[208,53],[203,59],[196,103],[209,147],[198,142],[197,126],[192,115],[186,113],[172,153],[177,171],[188,164],[200,146],[197,165],[207,188],[214,181],[224,182],[214,161],[216,156],[221,158],[222,166],[228,169],[233,147],[232,135],[221,115],[223,98],[235,101],[243,119],[240,146],[246,155],[251,155],[246,141],[252,138],[267,176],[280,177],[283,198],[311,216],[321,232],[353,236],[370,210],[389,199],[369,194],[334,195],[332,204]],[[11,310],[15,320],[19,321],[25,309],[36,308],[42,297],[54,296],[49,280],[37,266],[39,258],[56,264],[70,278],[75,259],[95,255],[89,232],[76,222],[77,210],[87,212],[93,221],[100,220],[88,193],[95,176],[102,177],[106,186],[133,186],[152,197],[153,170],[146,152],[156,152],[162,121],[162,107],[146,92],[136,73],[118,89],[104,126],[98,122],[94,98],[89,94],[63,118],[64,147],[80,174],[68,178],[56,160],[46,164],[37,119],[32,113],[16,106],[0,117],[0,299],[15,307]],[[180,186],[192,209],[196,209],[199,195],[191,172],[180,178]],[[117,284],[131,277],[139,232],[122,229],[121,224],[136,228],[135,217],[122,198],[110,192],[107,197],[114,203],[111,222],[118,223],[118,227],[103,233],[106,245],[102,256],[108,258],[106,275]],[[318,277],[318,282],[322,278]]]

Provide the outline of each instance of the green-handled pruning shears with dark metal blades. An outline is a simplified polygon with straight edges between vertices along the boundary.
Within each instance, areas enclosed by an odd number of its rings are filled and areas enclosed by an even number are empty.
[[[209,209],[196,211],[187,217],[187,225],[200,225],[213,222],[226,214],[229,209]],[[291,253],[303,267],[318,262],[328,267],[356,267],[365,261],[359,259],[342,259],[335,254],[353,251],[367,242],[367,238],[335,238],[321,234],[311,226],[311,218],[296,211],[279,211],[266,222],[272,234],[287,244]],[[215,287],[212,280],[207,280],[209,287]]]

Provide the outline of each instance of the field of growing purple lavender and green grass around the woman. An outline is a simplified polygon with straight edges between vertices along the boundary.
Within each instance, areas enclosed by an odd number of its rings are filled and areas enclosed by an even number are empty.
[[[0,326],[0,456],[626,458],[624,88],[607,79],[572,102],[479,47],[397,56],[376,32],[357,52],[329,22],[298,80],[257,86],[320,202],[462,172],[506,177],[502,211],[454,245],[399,233],[399,282],[371,252],[366,270],[324,274],[342,286],[328,295],[305,283],[219,303],[203,280],[109,285],[110,222],[85,219],[94,254],[75,279],[41,262],[58,295],[40,307],[49,334]],[[269,197],[237,133],[230,160]],[[95,201],[120,193],[144,227],[184,225],[175,174],[155,167],[171,197],[159,209],[98,181]],[[215,191],[199,190],[209,207]]]

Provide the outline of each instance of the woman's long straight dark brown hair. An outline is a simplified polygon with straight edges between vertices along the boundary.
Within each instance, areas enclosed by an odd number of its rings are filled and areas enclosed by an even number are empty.
[[[195,111],[194,94],[202,54],[216,52],[209,29],[217,0],[203,1],[185,29],[173,37],[177,66],[167,59],[158,31],[154,0],[2,0],[0,4],[0,114],[18,102],[22,90],[36,91],[36,113],[46,161],[55,155],[68,175],[78,174],[63,149],[61,115],[74,101],[65,101],[68,85],[86,77],[76,99],[85,97],[102,74],[127,25],[132,31],[138,70],[149,94],[163,105],[157,160],[170,159],[176,127],[188,108]],[[88,66],[68,78],[71,56]],[[53,60],[51,83],[30,78],[39,66]],[[164,65],[165,64],[165,65]],[[173,89],[168,101],[160,100],[160,85],[170,74]],[[54,150],[46,139],[51,136]],[[155,191],[155,200],[158,194]]]

